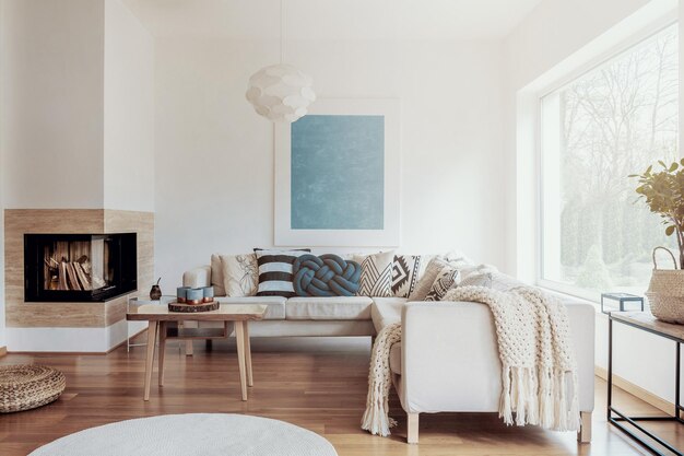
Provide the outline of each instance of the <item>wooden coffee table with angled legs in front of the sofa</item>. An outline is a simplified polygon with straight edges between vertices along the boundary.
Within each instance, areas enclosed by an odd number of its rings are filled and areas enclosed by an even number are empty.
[[[164,384],[164,351],[168,339],[225,339],[229,336],[228,323],[235,323],[235,339],[237,342],[237,362],[240,373],[240,388],[243,400],[247,400],[247,385],[252,386],[251,349],[249,347],[248,321],[260,320],[266,313],[266,305],[234,305],[221,304],[212,312],[179,313],[168,312],[165,305],[141,305],[134,312],[126,314],[126,319],[132,321],[150,321],[148,326],[148,356],[145,359],[145,381],[143,400],[150,400],[150,384],[154,362],[154,348],[160,339],[160,386]],[[223,321],[223,328],[168,328],[169,321]]]

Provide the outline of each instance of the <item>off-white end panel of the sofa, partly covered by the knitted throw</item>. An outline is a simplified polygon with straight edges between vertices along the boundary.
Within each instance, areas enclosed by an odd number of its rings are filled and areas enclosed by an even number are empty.
[[[581,411],[593,410],[594,317],[589,304],[566,304]],[[410,413],[497,411],[502,370],[496,328],[485,304],[406,303],[402,309],[400,399]]]

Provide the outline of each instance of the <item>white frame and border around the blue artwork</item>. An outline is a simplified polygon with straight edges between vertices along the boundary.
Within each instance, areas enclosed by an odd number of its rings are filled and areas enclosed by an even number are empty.
[[[398,247],[401,241],[401,102],[397,98],[319,98],[310,115],[382,116],[382,226],[374,230],[292,227],[292,125],[275,124],[274,245]]]

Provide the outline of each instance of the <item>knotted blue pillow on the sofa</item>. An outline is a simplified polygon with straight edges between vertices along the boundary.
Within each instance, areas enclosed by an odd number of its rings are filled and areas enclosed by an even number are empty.
[[[337,255],[302,255],[292,269],[298,296],[353,296],[358,291],[361,266]]]

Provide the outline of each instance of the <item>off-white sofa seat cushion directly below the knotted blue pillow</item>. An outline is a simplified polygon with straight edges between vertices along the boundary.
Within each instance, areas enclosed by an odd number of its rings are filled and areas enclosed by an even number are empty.
[[[370,319],[372,304],[367,296],[291,297],[285,315],[287,319]]]

